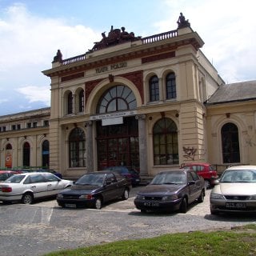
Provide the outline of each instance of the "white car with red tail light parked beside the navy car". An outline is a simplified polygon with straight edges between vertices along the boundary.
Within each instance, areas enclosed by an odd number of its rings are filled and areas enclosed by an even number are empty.
[[[58,178],[51,173],[14,174],[5,182],[0,183],[0,201],[21,201],[31,204],[35,198],[57,195],[73,183],[73,181]]]

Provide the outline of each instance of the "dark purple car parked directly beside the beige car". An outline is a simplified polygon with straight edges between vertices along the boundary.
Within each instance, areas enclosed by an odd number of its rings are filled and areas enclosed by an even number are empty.
[[[194,170],[165,170],[138,191],[134,204],[138,210],[179,210],[186,213],[191,202],[203,202],[205,184]]]

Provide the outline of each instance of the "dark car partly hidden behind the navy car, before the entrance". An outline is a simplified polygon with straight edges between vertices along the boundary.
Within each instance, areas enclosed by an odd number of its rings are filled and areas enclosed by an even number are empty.
[[[104,170],[110,170],[119,175],[129,178],[132,186],[138,186],[141,182],[141,178],[137,170],[132,167],[128,166],[109,166],[106,167]]]

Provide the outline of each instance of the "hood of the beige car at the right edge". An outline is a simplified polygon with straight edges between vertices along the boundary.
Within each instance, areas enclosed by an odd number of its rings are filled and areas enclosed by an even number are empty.
[[[211,191],[214,194],[256,194],[256,183],[219,183]]]

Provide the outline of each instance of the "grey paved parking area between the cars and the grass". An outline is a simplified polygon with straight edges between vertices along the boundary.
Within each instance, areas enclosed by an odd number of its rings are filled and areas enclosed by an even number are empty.
[[[134,188],[127,201],[110,203],[102,210],[62,208],[56,200],[33,205],[0,203],[0,255],[36,256],[119,240],[256,223],[254,215],[211,215],[210,190],[206,190],[205,201],[193,203],[186,214],[142,214],[134,208],[140,189]]]

